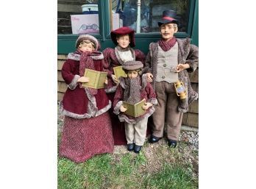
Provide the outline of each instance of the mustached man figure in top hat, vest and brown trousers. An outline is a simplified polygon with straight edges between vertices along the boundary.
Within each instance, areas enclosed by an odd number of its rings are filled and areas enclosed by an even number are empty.
[[[188,111],[188,104],[198,98],[188,76],[188,72],[196,70],[198,65],[198,47],[191,44],[189,38],[177,39],[174,33],[178,31],[179,21],[174,10],[163,11],[163,18],[158,22],[162,38],[157,43],[149,44],[146,56],[146,67],[151,68],[147,80],[157,94],[158,104],[152,114],[151,143],[157,143],[163,138],[166,121],[168,146],[176,147],[182,124],[182,115]],[[182,82],[186,89],[185,99],[179,99],[174,87]]]

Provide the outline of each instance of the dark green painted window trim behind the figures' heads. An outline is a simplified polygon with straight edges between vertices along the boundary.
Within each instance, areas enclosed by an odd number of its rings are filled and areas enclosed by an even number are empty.
[[[111,0],[110,0],[111,1]],[[176,38],[191,38],[193,44],[199,45],[199,29],[198,29],[198,0],[191,0],[189,7],[189,19],[188,19],[188,32],[177,32]],[[102,10],[104,7],[104,10]],[[110,38],[110,5],[108,1],[99,1],[99,34],[93,34],[101,45],[102,50],[107,47],[114,47],[114,44]],[[79,35],[57,35],[57,53],[68,54],[75,50],[75,43]],[[147,53],[149,43],[157,41],[161,38],[160,33],[139,33],[135,34],[136,47],[135,49],[141,49],[144,53]]]

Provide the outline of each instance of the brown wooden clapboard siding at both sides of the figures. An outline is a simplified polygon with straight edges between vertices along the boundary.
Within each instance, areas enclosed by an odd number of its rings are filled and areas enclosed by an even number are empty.
[[[67,54],[58,54],[57,56],[57,99],[58,101],[63,99],[63,95],[65,93],[65,90],[67,89],[67,85],[65,84],[63,77],[61,76],[61,68],[63,67],[63,63],[65,60],[67,60]],[[196,71],[193,74],[189,74],[191,79],[191,85],[193,90],[196,90],[198,93],[199,91],[199,68],[196,69]],[[199,99],[196,101],[193,101],[193,103],[189,106],[188,113],[184,113],[183,119],[182,119],[182,125],[186,126],[193,126],[198,128],[199,125]]]

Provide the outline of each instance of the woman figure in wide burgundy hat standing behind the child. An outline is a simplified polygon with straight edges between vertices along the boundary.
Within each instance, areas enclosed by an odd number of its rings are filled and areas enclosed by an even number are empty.
[[[142,63],[145,62],[145,54],[138,49],[132,49],[135,47],[135,31],[129,29],[129,27],[121,27],[113,30],[111,33],[111,39],[115,43],[115,49],[107,48],[102,52],[104,54],[104,60],[107,64],[107,76],[108,76],[108,88],[106,90],[107,96],[113,102],[115,96],[115,90],[118,86],[118,79],[115,78],[113,68],[115,66],[124,65],[127,61],[138,60]],[[146,73],[146,71],[143,71]],[[110,110],[110,117],[113,126],[113,138],[115,145],[126,144],[124,134],[124,124],[120,123],[118,116],[113,114],[113,110]]]

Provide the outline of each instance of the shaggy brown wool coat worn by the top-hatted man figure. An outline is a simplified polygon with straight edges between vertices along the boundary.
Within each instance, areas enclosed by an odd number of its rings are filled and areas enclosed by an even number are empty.
[[[188,90],[188,101],[185,103],[180,103],[178,110],[180,112],[187,112],[188,111],[188,104],[191,104],[193,101],[198,99],[198,93],[193,90],[191,87],[191,82],[188,76],[188,72],[193,72],[196,70],[198,63],[199,63],[199,51],[198,47],[191,44],[191,39],[177,39],[178,43],[178,63],[188,63],[190,68],[180,71],[178,76],[179,80],[182,81],[185,85],[185,88]],[[157,76],[157,54],[158,54],[158,43],[150,43],[149,44],[149,53],[146,56],[146,63],[145,66],[151,70],[153,74],[153,82],[152,87],[155,88],[155,78]]]

